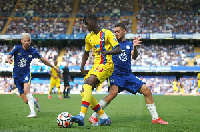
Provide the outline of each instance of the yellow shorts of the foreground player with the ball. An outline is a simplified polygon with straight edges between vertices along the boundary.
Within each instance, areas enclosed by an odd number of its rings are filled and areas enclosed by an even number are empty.
[[[84,80],[90,77],[90,75],[96,75],[99,79],[100,84],[102,84],[107,78],[109,78],[114,70],[114,64],[113,63],[106,63],[104,64],[94,64],[88,74],[84,77]]]

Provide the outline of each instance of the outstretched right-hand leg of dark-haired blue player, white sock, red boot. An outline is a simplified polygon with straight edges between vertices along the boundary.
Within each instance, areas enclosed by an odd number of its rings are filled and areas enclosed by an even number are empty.
[[[158,113],[156,111],[156,105],[154,103],[154,99],[153,99],[150,88],[147,87],[146,84],[143,84],[139,92],[143,94],[145,97],[147,109],[149,110],[152,116],[152,123],[153,124],[168,124],[168,122],[165,122],[160,117],[158,117]]]

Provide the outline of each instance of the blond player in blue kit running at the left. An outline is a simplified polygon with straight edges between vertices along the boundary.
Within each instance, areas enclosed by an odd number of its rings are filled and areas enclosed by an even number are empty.
[[[29,33],[22,33],[21,39],[22,45],[15,45],[12,51],[8,55],[8,63],[12,64],[14,56],[14,68],[13,68],[13,78],[18,91],[24,102],[29,104],[30,115],[27,117],[34,118],[37,117],[34,110],[34,104],[36,109],[40,111],[40,105],[38,104],[37,99],[35,99],[30,93],[30,82],[31,82],[31,73],[30,73],[30,63],[32,59],[39,58],[44,64],[53,67],[57,72],[60,72],[59,69],[55,68],[49,61],[44,59],[40,53],[30,46],[31,36]]]

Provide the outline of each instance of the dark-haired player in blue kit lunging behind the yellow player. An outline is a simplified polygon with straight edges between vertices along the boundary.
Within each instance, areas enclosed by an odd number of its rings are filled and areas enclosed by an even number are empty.
[[[136,46],[141,45],[140,43],[142,41],[140,41],[138,37],[135,37],[133,42],[125,40],[126,27],[122,23],[114,26],[114,33],[122,49],[122,53],[112,56],[114,72],[109,77],[110,91],[107,96],[100,100],[99,105],[105,109],[117,96],[118,92],[123,90],[129,91],[132,94],[139,92],[145,97],[146,106],[152,116],[152,123],[168,124],[168,122],[165,122],[158,117],[150,88],[147,87],[139,78],[134,76],[131,71],[131,57],[132,59],[138,57]],[[93,124],[98,123],[97,114],[95,112],[92,114],[89,121]]]

